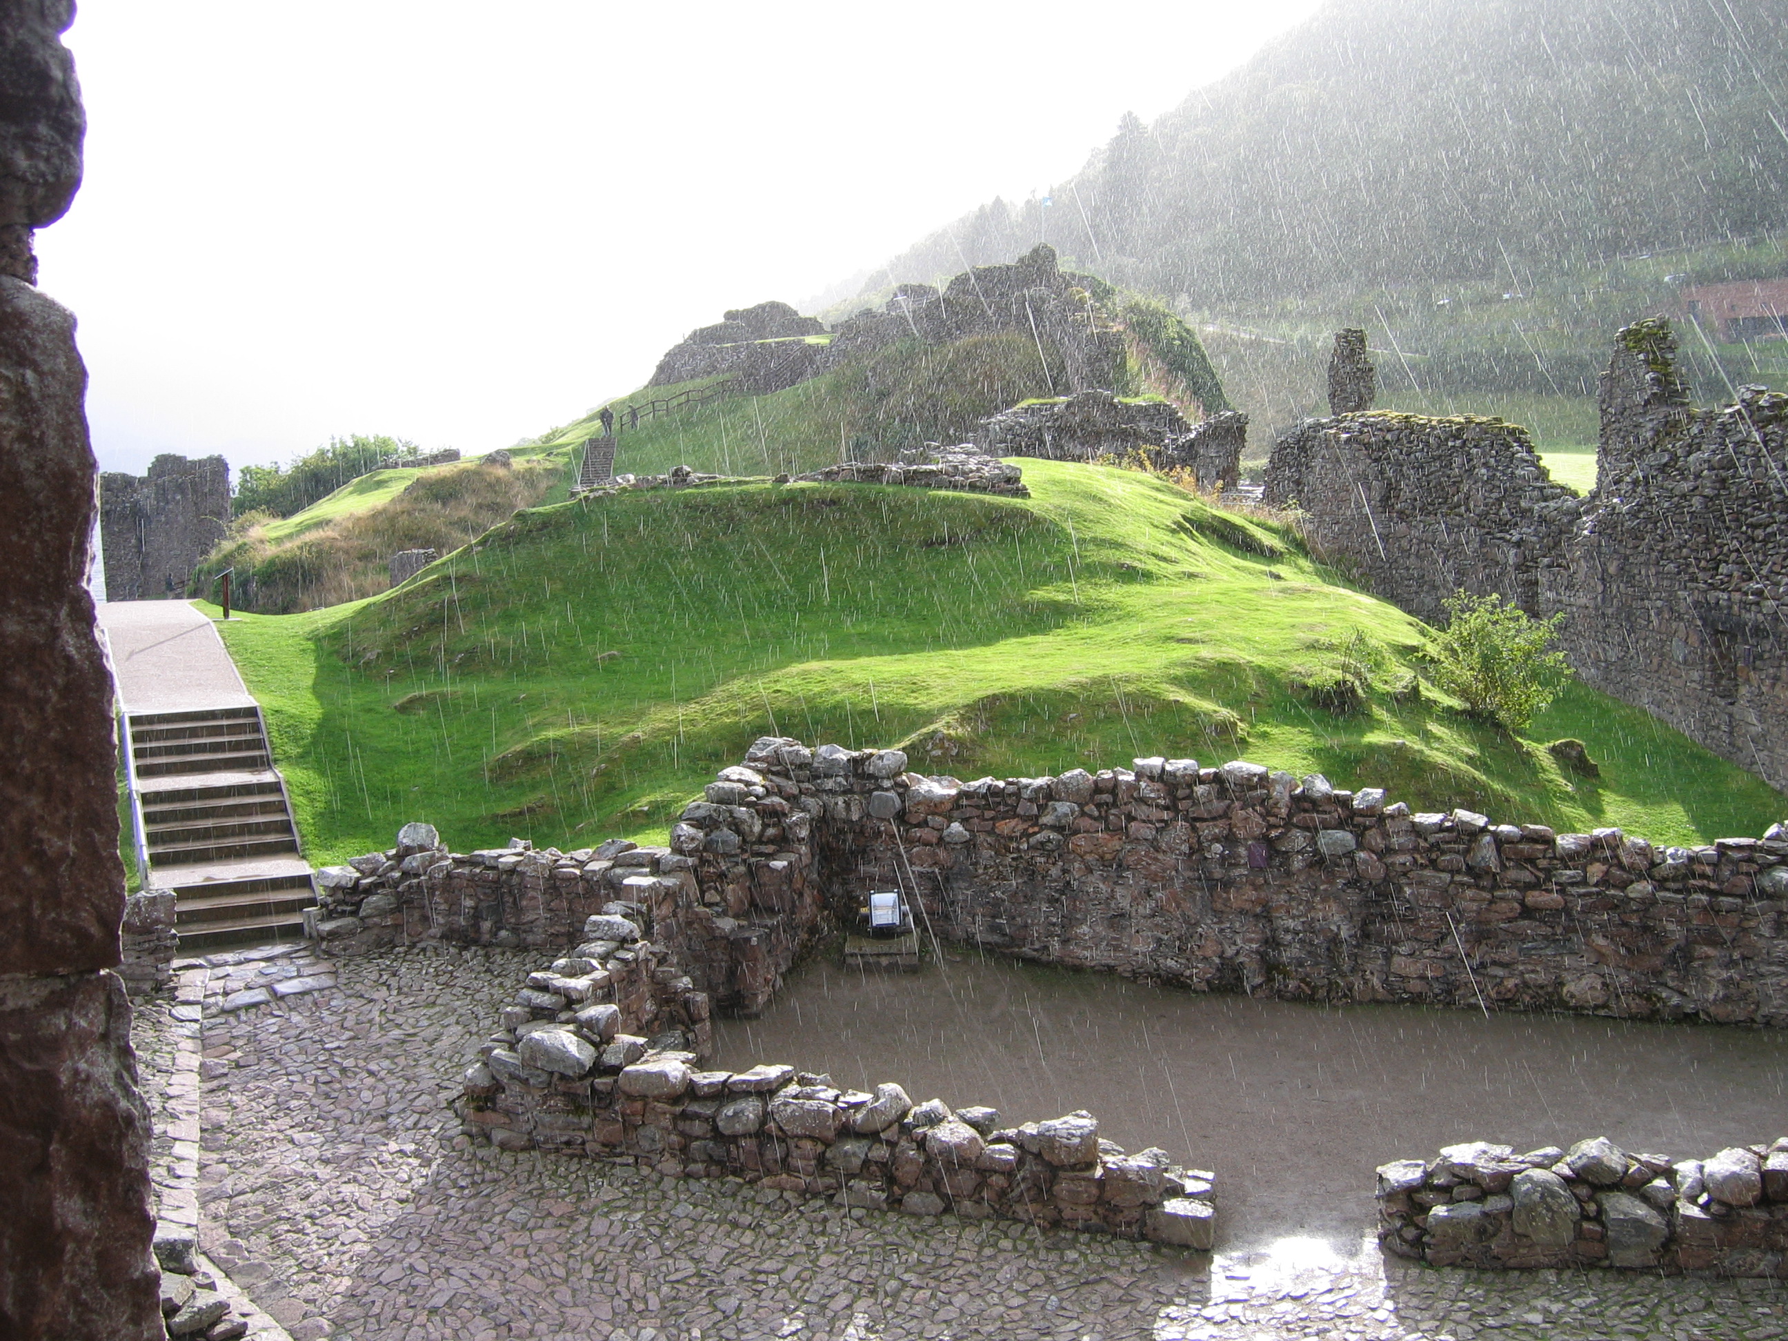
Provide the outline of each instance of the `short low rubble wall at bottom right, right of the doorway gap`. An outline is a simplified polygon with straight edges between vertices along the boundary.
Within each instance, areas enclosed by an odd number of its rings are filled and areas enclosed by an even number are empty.
[[[1430,1266],[1788,1273],[1788,1137],[1700,1160],[1606,1137],[1516,1155],[1482,1141],[1379,1169],[1379,1243]]]

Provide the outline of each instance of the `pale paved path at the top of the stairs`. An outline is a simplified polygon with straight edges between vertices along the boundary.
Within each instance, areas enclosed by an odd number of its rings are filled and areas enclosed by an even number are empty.
[[[98,617],[125,712],[254,706],[216,624],[191,603],[107,601]]]

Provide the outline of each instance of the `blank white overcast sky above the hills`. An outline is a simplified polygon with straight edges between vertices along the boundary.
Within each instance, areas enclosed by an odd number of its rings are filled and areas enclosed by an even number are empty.
[[[82,0],[86,186],[41,288],[102,468],[486,451],[1046,190],[1314,9]]]

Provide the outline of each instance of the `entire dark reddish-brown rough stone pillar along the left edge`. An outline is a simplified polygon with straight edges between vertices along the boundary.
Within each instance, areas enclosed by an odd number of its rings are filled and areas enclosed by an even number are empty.
[[[120,958],[111,683],[84,579],[75,322],[30,231],[80,182],[68,0],[0,0],[0,1336],[161,1337],[148,1110]]]

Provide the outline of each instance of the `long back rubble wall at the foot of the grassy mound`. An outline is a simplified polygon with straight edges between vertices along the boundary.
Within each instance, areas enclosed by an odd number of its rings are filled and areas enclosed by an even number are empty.
[[[622,899],[747,1016],[867,890],[905,887],[939,939],[1196,991],[1788,1025],[1788,826],[1654,848],[1241,760],[958,783],[767,737],[667,848],[606,848],[417,858],[352,896],[401,876],[390,935],[545,949]],[[368,915],[325,935],[350,946]]]

